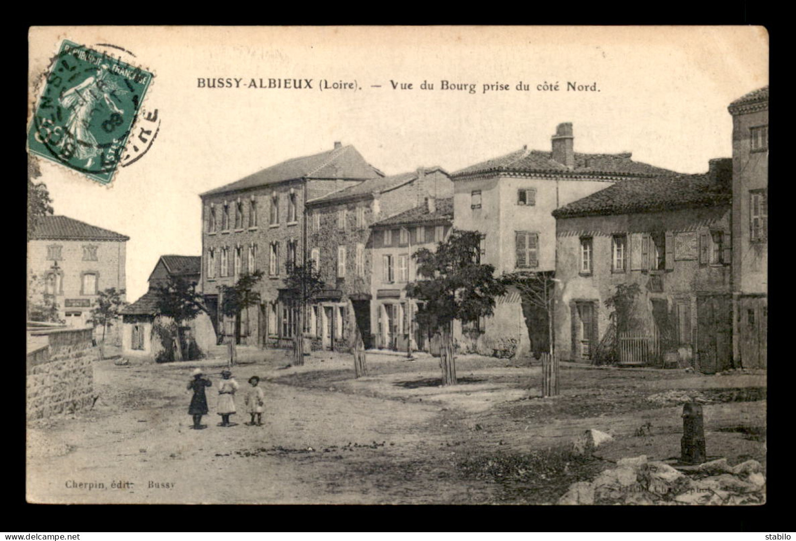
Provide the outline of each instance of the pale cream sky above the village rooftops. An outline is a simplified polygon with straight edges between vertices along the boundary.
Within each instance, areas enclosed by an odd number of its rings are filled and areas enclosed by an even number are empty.
[[[158,110],[157,139],[110,186],[40,160],[56,214],[131,237],[131,301],[158,257],[201,254],[199,194],[335,141],[386,174],[453,172],[523,145],[547,151],[556,125],[571,122],[576,151],[631,151],[699,173],[732,155],[728,104],[768,84],[767,32],[751,26],[38,27],[30,108],[64,39],[126,49],[154,73],[143,106]]]

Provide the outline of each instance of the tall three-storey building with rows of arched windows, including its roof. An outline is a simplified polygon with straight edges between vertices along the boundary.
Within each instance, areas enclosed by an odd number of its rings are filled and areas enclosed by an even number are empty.
[[[306,202],[382,176],[354,147],[334,143],[330,151],[290,159],[201,194],[201,288],[217,333],[235,335],[234,319],[218,309],[220,286],[262,270],[261,304],[241,314],[240,343],[290,343],[297,318],[283,279],[291,261],[306,257]]]

